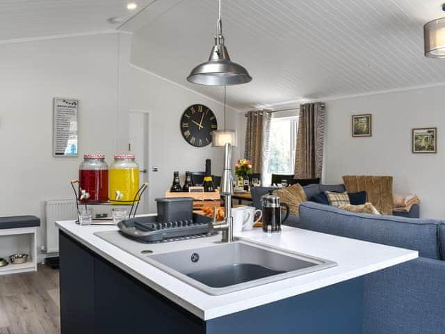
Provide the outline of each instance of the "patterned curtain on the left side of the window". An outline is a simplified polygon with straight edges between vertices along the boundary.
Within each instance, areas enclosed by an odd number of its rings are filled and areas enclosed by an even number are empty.
[[[269,158],[270,111],[249,111],[245,130],[244,157],[252,163],[252,173],[267,171]]]

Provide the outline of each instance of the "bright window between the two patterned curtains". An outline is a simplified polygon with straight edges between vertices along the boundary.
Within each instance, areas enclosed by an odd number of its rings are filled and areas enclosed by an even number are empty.
[[[270,123],[268,174],[293,174],[298,116],[273,118]]]

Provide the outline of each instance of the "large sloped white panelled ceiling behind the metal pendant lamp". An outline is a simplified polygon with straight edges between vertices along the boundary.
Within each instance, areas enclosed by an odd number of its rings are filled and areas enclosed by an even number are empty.
[[[227,49],[253,77],[227,88],[228,103],[244,110],[445,82],[445,60],[423,56],[423,24],[445,16],[443,1],[223,0]],[[223,88],[186,81],[207,61],[218,1],[174,2],[136,31],[132,61],[222,100]]]

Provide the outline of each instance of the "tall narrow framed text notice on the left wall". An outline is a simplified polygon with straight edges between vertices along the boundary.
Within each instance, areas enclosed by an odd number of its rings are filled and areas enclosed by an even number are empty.
[[[54,157],[77,157],[79,100],[54,97]]]

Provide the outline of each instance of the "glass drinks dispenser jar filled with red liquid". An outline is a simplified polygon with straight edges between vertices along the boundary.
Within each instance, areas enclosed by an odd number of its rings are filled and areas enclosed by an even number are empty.
[[[108,165],[104,154],[85,154],[79,165],[79,202],[108,201]]]

